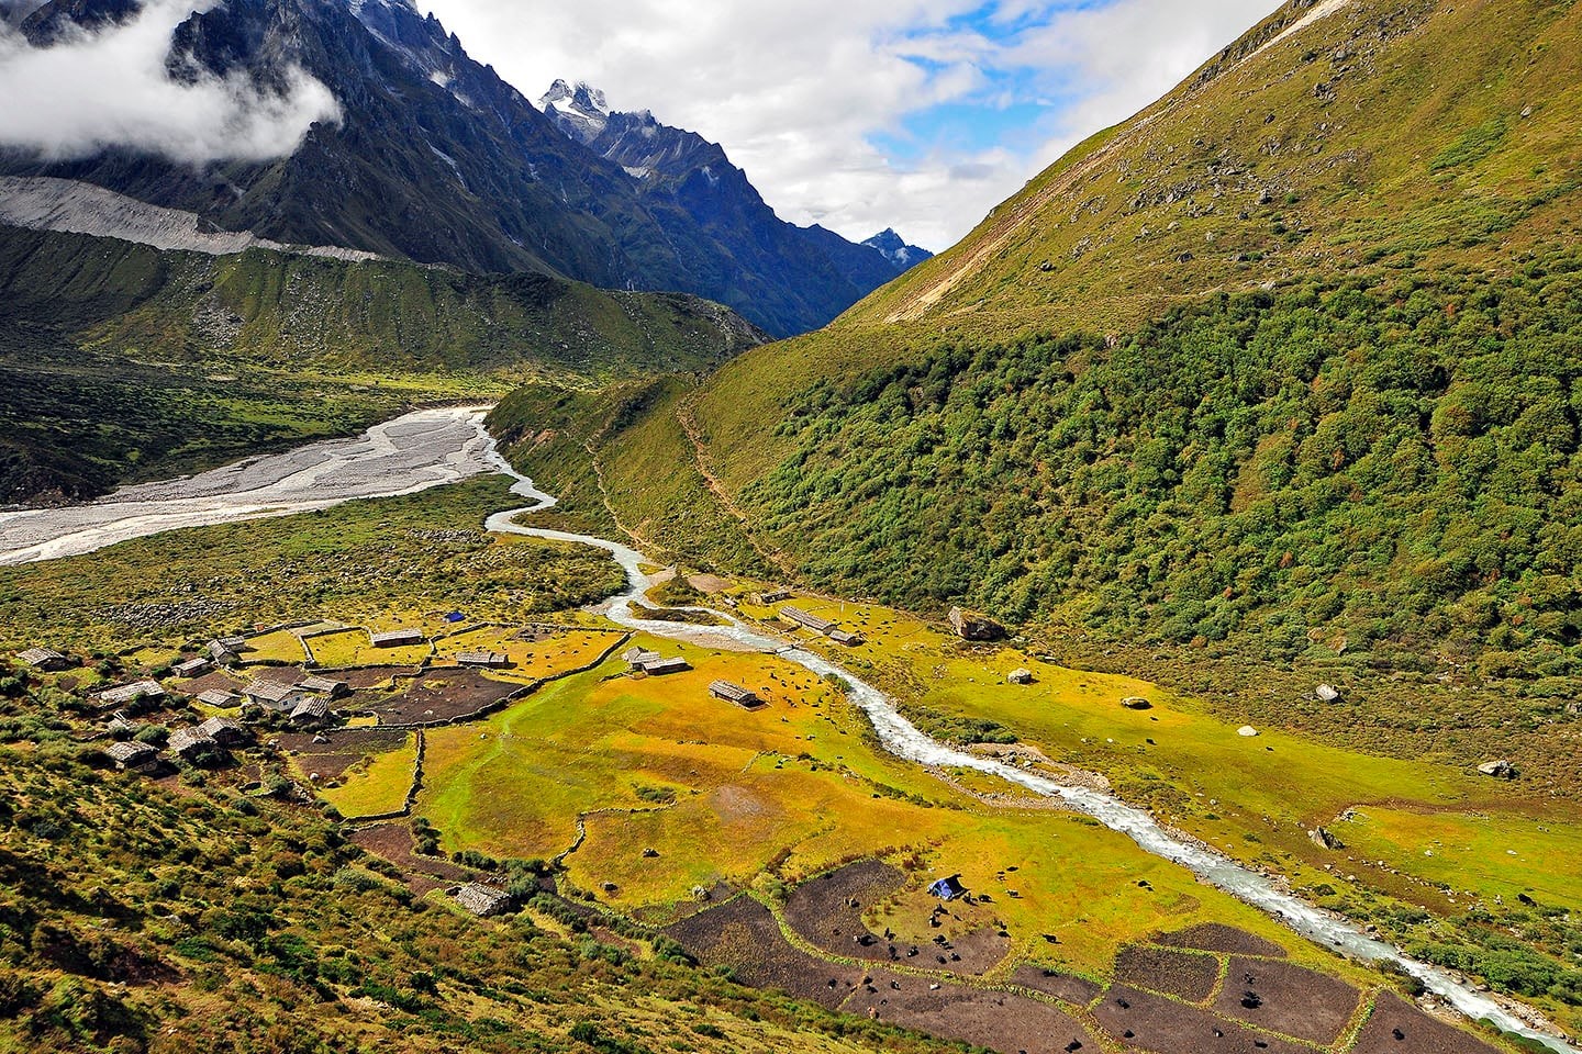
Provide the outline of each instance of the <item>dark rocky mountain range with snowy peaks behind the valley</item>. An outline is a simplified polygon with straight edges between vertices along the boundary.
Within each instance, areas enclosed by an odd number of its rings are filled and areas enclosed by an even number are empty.
[[[136,11],[52,0],[21,30],[47,46],[65,25]],[[0,174],[84,180],[274,242],[691,292],[774,335],[823,326],[921,253],[783,223],[718,145],[649,114],[609,114],[592,90],[558,85],[546,115],[405,0],[229,0],[177,27],[168,66],[266,88],[297,66],[343,119],[277,161],[193,169],[114,149],[11,153]]]

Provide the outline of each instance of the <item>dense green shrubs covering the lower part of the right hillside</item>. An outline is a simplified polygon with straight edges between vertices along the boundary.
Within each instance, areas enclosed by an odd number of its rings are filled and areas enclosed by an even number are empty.
[[[744,506],[808,577],[1153,642],[1476,657],[1569,694],[1582,259],[941,340],[785,406]]]

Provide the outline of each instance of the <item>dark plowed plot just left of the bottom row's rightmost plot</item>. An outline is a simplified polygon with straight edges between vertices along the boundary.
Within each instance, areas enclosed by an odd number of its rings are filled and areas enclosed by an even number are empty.
[[[1342,980],[1291,962],[1231,959],[1215,1010],[1313,1043],[1334,1043],[1357,1010],[1361,992]]]

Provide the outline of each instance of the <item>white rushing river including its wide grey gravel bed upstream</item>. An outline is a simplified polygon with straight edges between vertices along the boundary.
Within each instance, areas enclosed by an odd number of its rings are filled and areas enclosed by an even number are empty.
[[[851,702],[867,713],[880,741],[891,754],[919,765],[978,770],[1036,795],[1060,798],[1069,807],[1126,834],[1144,850],[1186,868],[1204,882],[1326,948],[1368,962],[1398,966],[1474,1021],[1492,1021],[1500,1029],[1536,1040],[1557,1054],[1579,1049],[1560,1038],[1536,1011],[1527,1010],[1517,1016],[1446,970],[1419,962],[1398,948],[1368,937],[1349,920],[1286,893],[1277,880],[1243,868],[1201,842],[1168,831],[1142,809],[1128,806],[1112,795],[1068,787],[932,740],[906,721],[880,689],[853,676],[838,664],[753,629],[726,612],[710,612],[710,615],[728,619],[728,626],[638,618],[633,615],[631,602],[653,585],[642,570],[647,563],[642,553],[589,534],[517,525],[519,517],[547,509],[555,499],[538,490],[533,480],[500,457],[484,431],[483,417],[478,409],[419,411],[370,428],[356,439],[316,442],[291,454],[255,458],[190,479],[130,487],[89,506],[0,514],[0,564],[87,553],[114,542],[184,526],[327,509],[358,498],[407,495],[481,472],[503,472],[516,479],[513,493],[530,499],[532,504],[489,517],[486,528],[592,545],[609,553],[626,572],[626,589],[598,605],[598,612],[612,623],[706,648],[774,653],[818,676],[838,676],[846,683]]]

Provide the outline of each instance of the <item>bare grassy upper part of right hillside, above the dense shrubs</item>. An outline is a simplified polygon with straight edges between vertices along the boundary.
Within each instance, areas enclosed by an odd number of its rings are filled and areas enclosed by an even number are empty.
[[[1571,5],[1353,0],[1259,51],[1305,8],[1288,3],[837,326],[982,333],[1025,313],[1125,330],[1183,292],[1383,259],[1481,265],[1565,228],[1582,115]]]

